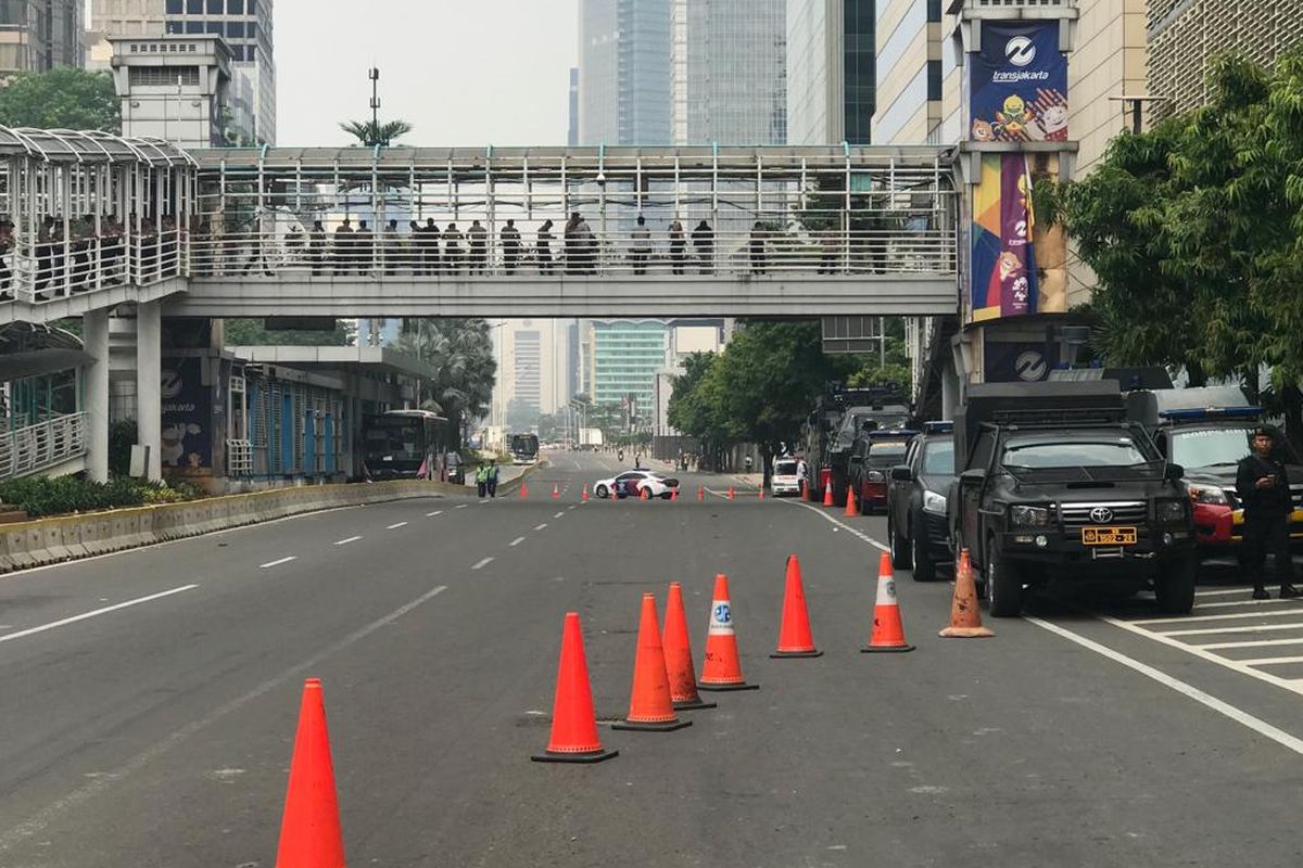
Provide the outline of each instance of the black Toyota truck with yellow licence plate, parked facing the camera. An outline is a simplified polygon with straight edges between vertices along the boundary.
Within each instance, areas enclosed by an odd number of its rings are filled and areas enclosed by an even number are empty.
[[[1110,380],[969,387],[947,508],[955,549],[985,574],[992,616],[1019,614],[1024,587],[1052,578],[1127,592],[1152,582],[1162,610],[1194,606],[1183,470],[1124,415]]]

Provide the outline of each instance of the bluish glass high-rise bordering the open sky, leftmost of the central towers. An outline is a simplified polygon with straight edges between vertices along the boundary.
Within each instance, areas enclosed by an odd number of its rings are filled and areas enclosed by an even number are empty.
[[[579,144],[670,144],[670,0],[580,0]]]

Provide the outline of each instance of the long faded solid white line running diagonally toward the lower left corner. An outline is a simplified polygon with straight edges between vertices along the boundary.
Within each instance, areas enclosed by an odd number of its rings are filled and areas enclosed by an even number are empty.
[[[197,586],[186,586],[186,587],[197,587]],[[177,591],[180,591],[180,590],[181,588],[177,588]],[[100,776],[98,778],[93,778],[89,783],[86,783],[85,786],[82,786],[79,790],[73,790],[72,793],[69,793],[68,795],[63,796],[61,799],[59,799],[59,800],[53,802],[52,804],[42,808],[40,811],[38,811],[36,813],[34,813],[33,816],[30,816],[27,820],[23,820],[22,822],[20,822],[18,825],[13,826],[12,829],[9,829],[9,830],[7,830],[4,833],[0,833],[0,852],[5,852],[8,850],[12,850],[14,845],[17,845],[17,843],[20,843],[20,842],[22,842],[22,841],[33,837],[33,835],[40,834],[51,824],[56,822],[63,816],[74,812],[79,806],[82,806],[83,803],[89,802],[90,799],[95,798],[96,795],[100,795],[108,787],[113,786],[115,783],[120,783],[125,778],[128,778],[129,776],[139,772],[146,765],[149,765],[150,763],[158,760],[159,757],[162,757],[163,755],[165,755],[167,752],[169,752],[172,748],[175,748],[179,744],[181,744],[182,742],[185,742],[192,735],[195,735],[197,733],[199,733],[199,731],[202,731],[202,730],[212,726],[214,724],[216,724],[223,717],[227,717],[228,714],[240,711],[241,708],[244,708],[245,705],[248,705],[253,700],[258,699],[259,696],[262,696],[265,694],[268,694],[272,690],[280,687],[283,683],[285,683],[291,678],[294,678],[294,677],[297,677],[300,674],[304,674],[305,671],[309,671],[309,670],[314,669],[318,664],[321,664],[327,657],[331,657],[332,655],[339,653],[340,651],[344,651],[349,645],[353,645],[353,644],[361,642],[362,639],[367,638],[369,635],[371,635],[377,630],[380,630],[383,627],[390,626],[391,623],[394,623],[395,621],[397,621],[403,616],[408,614],[409,612],[412,612],[417,606],[427,603],[429,600],[433,600],[434,597],[437,597],[438,595],[443,593],[447,590],[448,590],[447,586],[440,584],[437,588],[426,591],[425,593],[422,593],[421,596],[418,596],[416,600],[412,600],[410,603],[407,603],[407,604],[399,606],[397,609],[395,609],[394,612],[388,613],[387,616],[379,618],[378,621],[373,621],[371,623],[366,625],[365,627],[361,627],[360,630],[356,630],[354,632],[348,634],[347,636],[344,636],[343,639],[340,639],[335,644],[323,648],[319,653],[313,655],[311,657],[308,657],[302,662],[291,666],[289,669],[284,670],[279,675],[275,675],[275,677],[272,677],[272,678],[262,682],[261,685],[258,685],[257,687],[254,687],[253,690],[250,690],[244,696],[238,696],[238,698],[231,700],[229,703],[227,703],[225,705],[220,705],[216,711],[214,711],[207,717],[205,717],[202,720],[198,720],[198,721],[194,721],[192,724],[186,724],[181,729],[173,731],[171,735],[168,735],[168,737],[165,737],[165,738],[163,738],[163,739],[160,739],[158,742],[154,742],[154,744],[151,744],[150,747],[147,747],[141,753],[137,753],[136,756],[133,756],[132,759],[129,759],[126,763],[124,763],[122,765],[117,766],[112,772],[107,772],[107,773],[104,773],[103,776]],[[173,593],[175,593],[175,591],[173,591]],[[289,700],[287,698],[287,701],[292,701],[292,700]]]

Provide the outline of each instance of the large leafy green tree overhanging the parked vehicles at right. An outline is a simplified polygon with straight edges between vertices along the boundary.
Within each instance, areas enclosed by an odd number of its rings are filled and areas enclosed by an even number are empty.
[[[1298,437],[1303,396],[1303,53],[1273,72],[1214,61],[1210,99],[1113,141],[1065,190],[1081,259],[1100,278],[1096,345],[1115,363],[1273,372]],[[1268,396],[1270,397],[1270,396]]]

